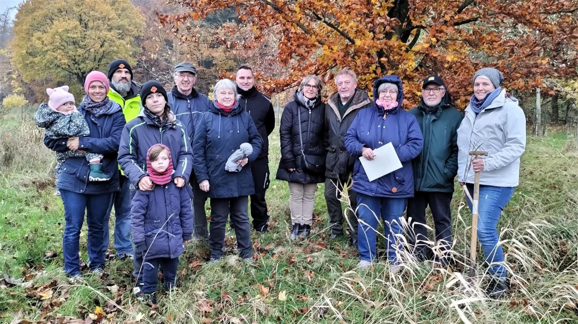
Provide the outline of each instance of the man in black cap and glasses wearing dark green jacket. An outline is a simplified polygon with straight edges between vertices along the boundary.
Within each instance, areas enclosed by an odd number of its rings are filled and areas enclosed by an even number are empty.
[[[450,259],[450,202],[458,170],[457,130],[464,115],[451,107],[450,94],[439,76],[429,76],[422,84],[421,100],[409,112],[416,117],[424,135],[424,148],[413,160],[414,197],[407,202],[410,243],[418,260],[434,259],[442,266]],[[428,247],[425,208],[429,205],[438,248]]]

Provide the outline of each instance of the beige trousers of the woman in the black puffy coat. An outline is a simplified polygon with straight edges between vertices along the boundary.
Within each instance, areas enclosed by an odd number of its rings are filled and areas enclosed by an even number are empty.
[[[291,224],[312,225],[317,184],[289,183]]]

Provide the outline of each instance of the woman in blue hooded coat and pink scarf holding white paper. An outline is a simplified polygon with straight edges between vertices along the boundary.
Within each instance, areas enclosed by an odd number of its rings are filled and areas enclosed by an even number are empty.
[[[373,150],[392,143],[401,169],[369,181],[360,160],[355,161],[353,190],[357,195],[358,248],[360,267],[369,267],[376,258],[376,230],[379,218],[386,230],[387,258],[391,273],[401,270],[397,251],[402,234],[401,218],[407,198],[413,197],[412,159],[420,154],[424,139],[416,117],[401,108],[402,82],[396,75],[384,76],[373,84],[375,106],[360,111],[345,136],[347,152],[369,161]]]

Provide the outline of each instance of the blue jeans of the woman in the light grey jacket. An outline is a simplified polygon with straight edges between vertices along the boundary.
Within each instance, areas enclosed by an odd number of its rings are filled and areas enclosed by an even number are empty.
[[[468,191],[473,196],[473,184],[467,184]],[[480,185],[480,200],[478,203],[477,239],[486,255],[486,262],[503,262],[502,245],[498,245],[498,219],[506,204],[512,199],[514,187],[495,187]],[[466,197],[466,202],[472,210],[472,202]],[[500,264],[490,267],[490,274],[506,278],[506,269]]]

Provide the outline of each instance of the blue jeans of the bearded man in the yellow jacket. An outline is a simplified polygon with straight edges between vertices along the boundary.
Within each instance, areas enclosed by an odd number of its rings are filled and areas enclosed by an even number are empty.
[[[131,200],[135,192],[128,187],[130,181],[127,177],[121,175],[118,180],[120,181],[120,191],[114,195],[114,249],[116,255],[122,258],[125,254],[132,254]],[[106,252],[108,247],[109,228],[106,226],[102,245],[103,252]]]

